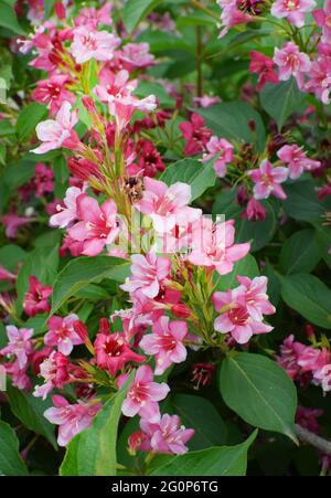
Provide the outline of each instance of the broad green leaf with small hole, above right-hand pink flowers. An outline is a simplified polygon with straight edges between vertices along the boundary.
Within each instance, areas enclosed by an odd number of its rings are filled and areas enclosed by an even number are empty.
[[[218,137],[239,144],[255,142],[259,151],[264,150],[266,131],[260,115],[245,102],[225,102],[197,109],[197,114],[205,118],[206,126]],[[255,123],[252,131],[249,121]]]

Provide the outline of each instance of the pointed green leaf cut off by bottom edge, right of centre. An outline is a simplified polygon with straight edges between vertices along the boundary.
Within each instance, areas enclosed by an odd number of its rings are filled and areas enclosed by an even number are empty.
[[[247,452],[257,431],[245,443],[178,456],[157,456],[148,467],[149,476],[245,476]]]

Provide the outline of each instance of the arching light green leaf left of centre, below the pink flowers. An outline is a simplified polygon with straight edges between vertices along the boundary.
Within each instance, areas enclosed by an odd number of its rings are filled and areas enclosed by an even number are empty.
[[[51,315],[87,284],[97,284],[103,278],[124,283],[129,276],[129,263],[111,256],[83,256],[72,259],[54,282]]]

